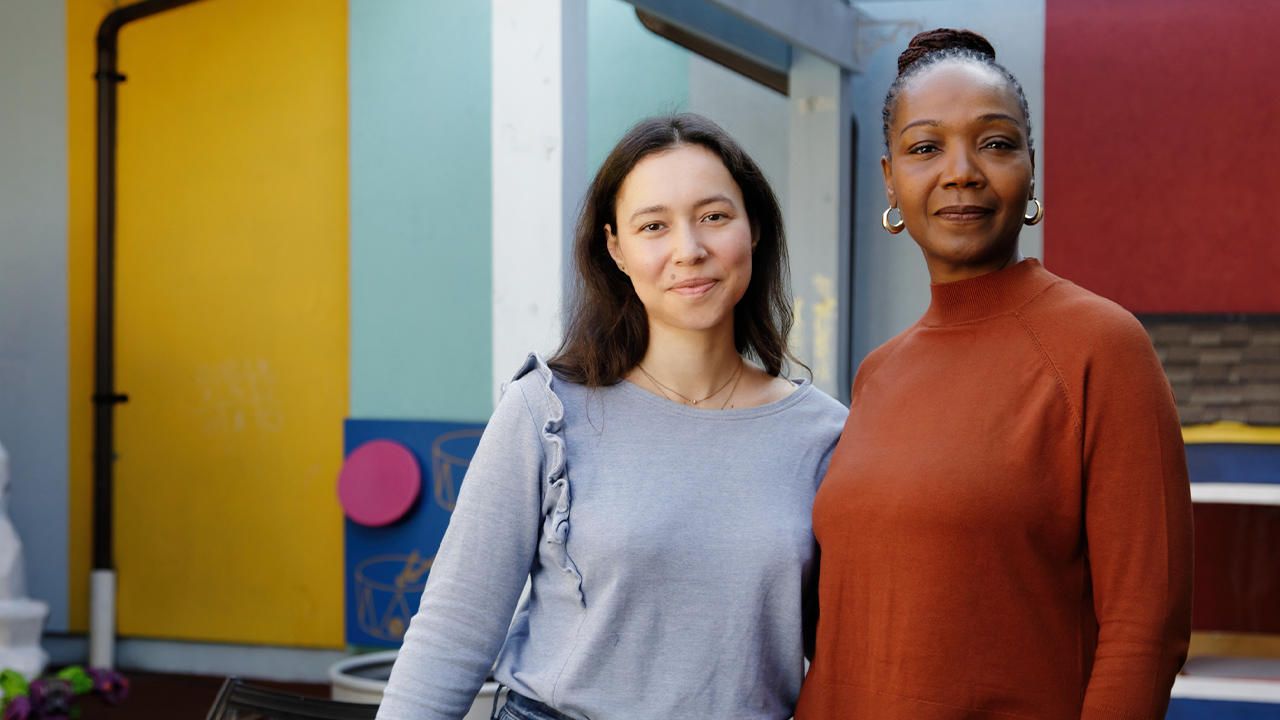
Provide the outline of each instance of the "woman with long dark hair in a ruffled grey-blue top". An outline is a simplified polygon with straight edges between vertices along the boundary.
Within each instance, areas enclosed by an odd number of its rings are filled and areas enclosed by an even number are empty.
[[[495,657],[502,717],[790,717],[846,411],[782,377],[777,200],[710,120],[648,119],[575,260],[564,342],[489,421],[379,717],[461,717]]]

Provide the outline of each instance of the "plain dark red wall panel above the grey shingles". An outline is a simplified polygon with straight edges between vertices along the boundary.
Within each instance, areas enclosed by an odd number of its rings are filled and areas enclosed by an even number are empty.
[[[1280,313],[1280,1],[1047,14],[1044,264],[1134,313]]]

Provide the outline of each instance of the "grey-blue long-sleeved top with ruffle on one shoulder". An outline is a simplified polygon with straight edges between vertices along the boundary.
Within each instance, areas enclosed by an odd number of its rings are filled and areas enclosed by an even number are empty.
[[[499,682],[584,720],[790,717],[813,497],[846,414],[808,382],[701,410],[563,382],[530,355],[378,717],[462,717],[495,657]]]

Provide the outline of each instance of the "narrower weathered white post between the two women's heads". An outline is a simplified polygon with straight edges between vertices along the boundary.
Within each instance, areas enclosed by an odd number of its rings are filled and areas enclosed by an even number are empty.
[[[849,82],[838,65],[800,49],[794,50],[790,81],[792,350],[813,370],[814,386],[847,402]]]

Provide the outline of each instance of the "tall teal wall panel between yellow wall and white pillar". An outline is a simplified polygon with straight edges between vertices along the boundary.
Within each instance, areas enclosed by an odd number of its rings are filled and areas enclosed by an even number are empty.
[[[486,420],[489,0],[351,0],[351,415]]]

